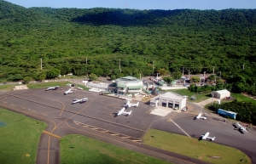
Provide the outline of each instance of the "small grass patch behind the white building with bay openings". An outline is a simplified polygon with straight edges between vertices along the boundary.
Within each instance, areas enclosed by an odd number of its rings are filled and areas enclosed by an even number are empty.
[[[210,93],[194,93],[189,91],[188,89],[169,89],[169,90],[166,90],[166,92],[173,92],[173,93],[180,94],[182,96],[188,96],[188,101],[194,102],[194,103],[199,103],[205,99],[211,98],[209,96]],[[195,96],[196,99],[195,100],[189,99],[191,96]]]

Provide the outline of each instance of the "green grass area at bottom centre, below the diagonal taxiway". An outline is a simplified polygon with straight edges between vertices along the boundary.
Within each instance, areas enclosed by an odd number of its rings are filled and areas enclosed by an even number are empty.
[[[71,148],[73,147],[73,148]],[[61,138],[61,164],[169,163],[81,135]]]

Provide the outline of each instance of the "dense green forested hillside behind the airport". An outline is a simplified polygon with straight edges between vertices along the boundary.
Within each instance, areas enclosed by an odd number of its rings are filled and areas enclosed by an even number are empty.
[[[0,32],[2,81],[70,72],[212,73],[214,66],[232,91],[255,93],[256,9],[23,8],[0,1]]]

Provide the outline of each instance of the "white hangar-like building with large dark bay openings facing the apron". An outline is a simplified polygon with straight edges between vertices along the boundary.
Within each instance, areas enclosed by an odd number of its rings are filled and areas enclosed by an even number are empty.
[[[151,106],[162,106],[166,108],[172,108],[176,110],[181,110],[186,107],[187,99],[177,93],[164,93],[158,95],[150,100]]]

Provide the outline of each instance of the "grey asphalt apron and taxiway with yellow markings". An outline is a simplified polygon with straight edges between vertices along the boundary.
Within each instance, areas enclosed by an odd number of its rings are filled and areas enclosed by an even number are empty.
[[[0,105],[3,108],[48,123],[39,142],[37,163],[59,163],[59,139],[73,133],[174,163],[207,163],[144,145],[142,138],[148,128],[180,133],[189,137],[210,132],[211,136],[216,136],[214,142],[236,147],[247,153],[253,162],[255,161],[252,146],[252,143],[256,143],[254,131],[241,134],[234,131],[228,122],[219,122],[213,120],[213,117],[207,120],[194,120],[196,113],[201,110],[196,105],[191,104],[188,111],[156,116],[150,114],[153,107],[140,103],[139,107],[127,109],[127,111],[132,110],[131,116],[115,117],[113,113],[120,110],[126,100],[85,91],[63,95],[65,89],[67,88],[55,91],[32,89],[0,94]],[[84,97],[89,100],[83,104],[72,105],[73,99]]]

